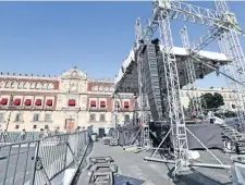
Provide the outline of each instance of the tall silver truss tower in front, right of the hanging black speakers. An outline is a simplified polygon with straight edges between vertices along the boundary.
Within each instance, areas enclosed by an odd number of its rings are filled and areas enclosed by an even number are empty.
[[[160,11],[159,27],[161,35],[161,42],[164,45],[163,49],[163,65],[168,92],[169,120],[171,125],[171,137],[173,139],[175,170],[174,174],[183,165],[187,164],[187,134],[185,130],[185,119],[180,98],[180,82],[176,67],[176,59],[172,51],[173,40],[170,28],[169,12]],[[164,42],[163,42],[164,41]]]

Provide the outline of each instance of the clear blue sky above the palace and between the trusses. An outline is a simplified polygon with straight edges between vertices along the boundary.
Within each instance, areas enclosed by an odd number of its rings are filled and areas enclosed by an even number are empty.
[[[245,29],[244,5],[231,8]],[[151,2],[0,2],[0,71],[59,75],[76,65],[91,77],[113,78],[133,46],[136,17],[146,20],[150,10]],[[176,46],[184,25],[172,24]],[[204,33],[187,26],[191,39]],[[213,78],[198,84],[211,86]]]

